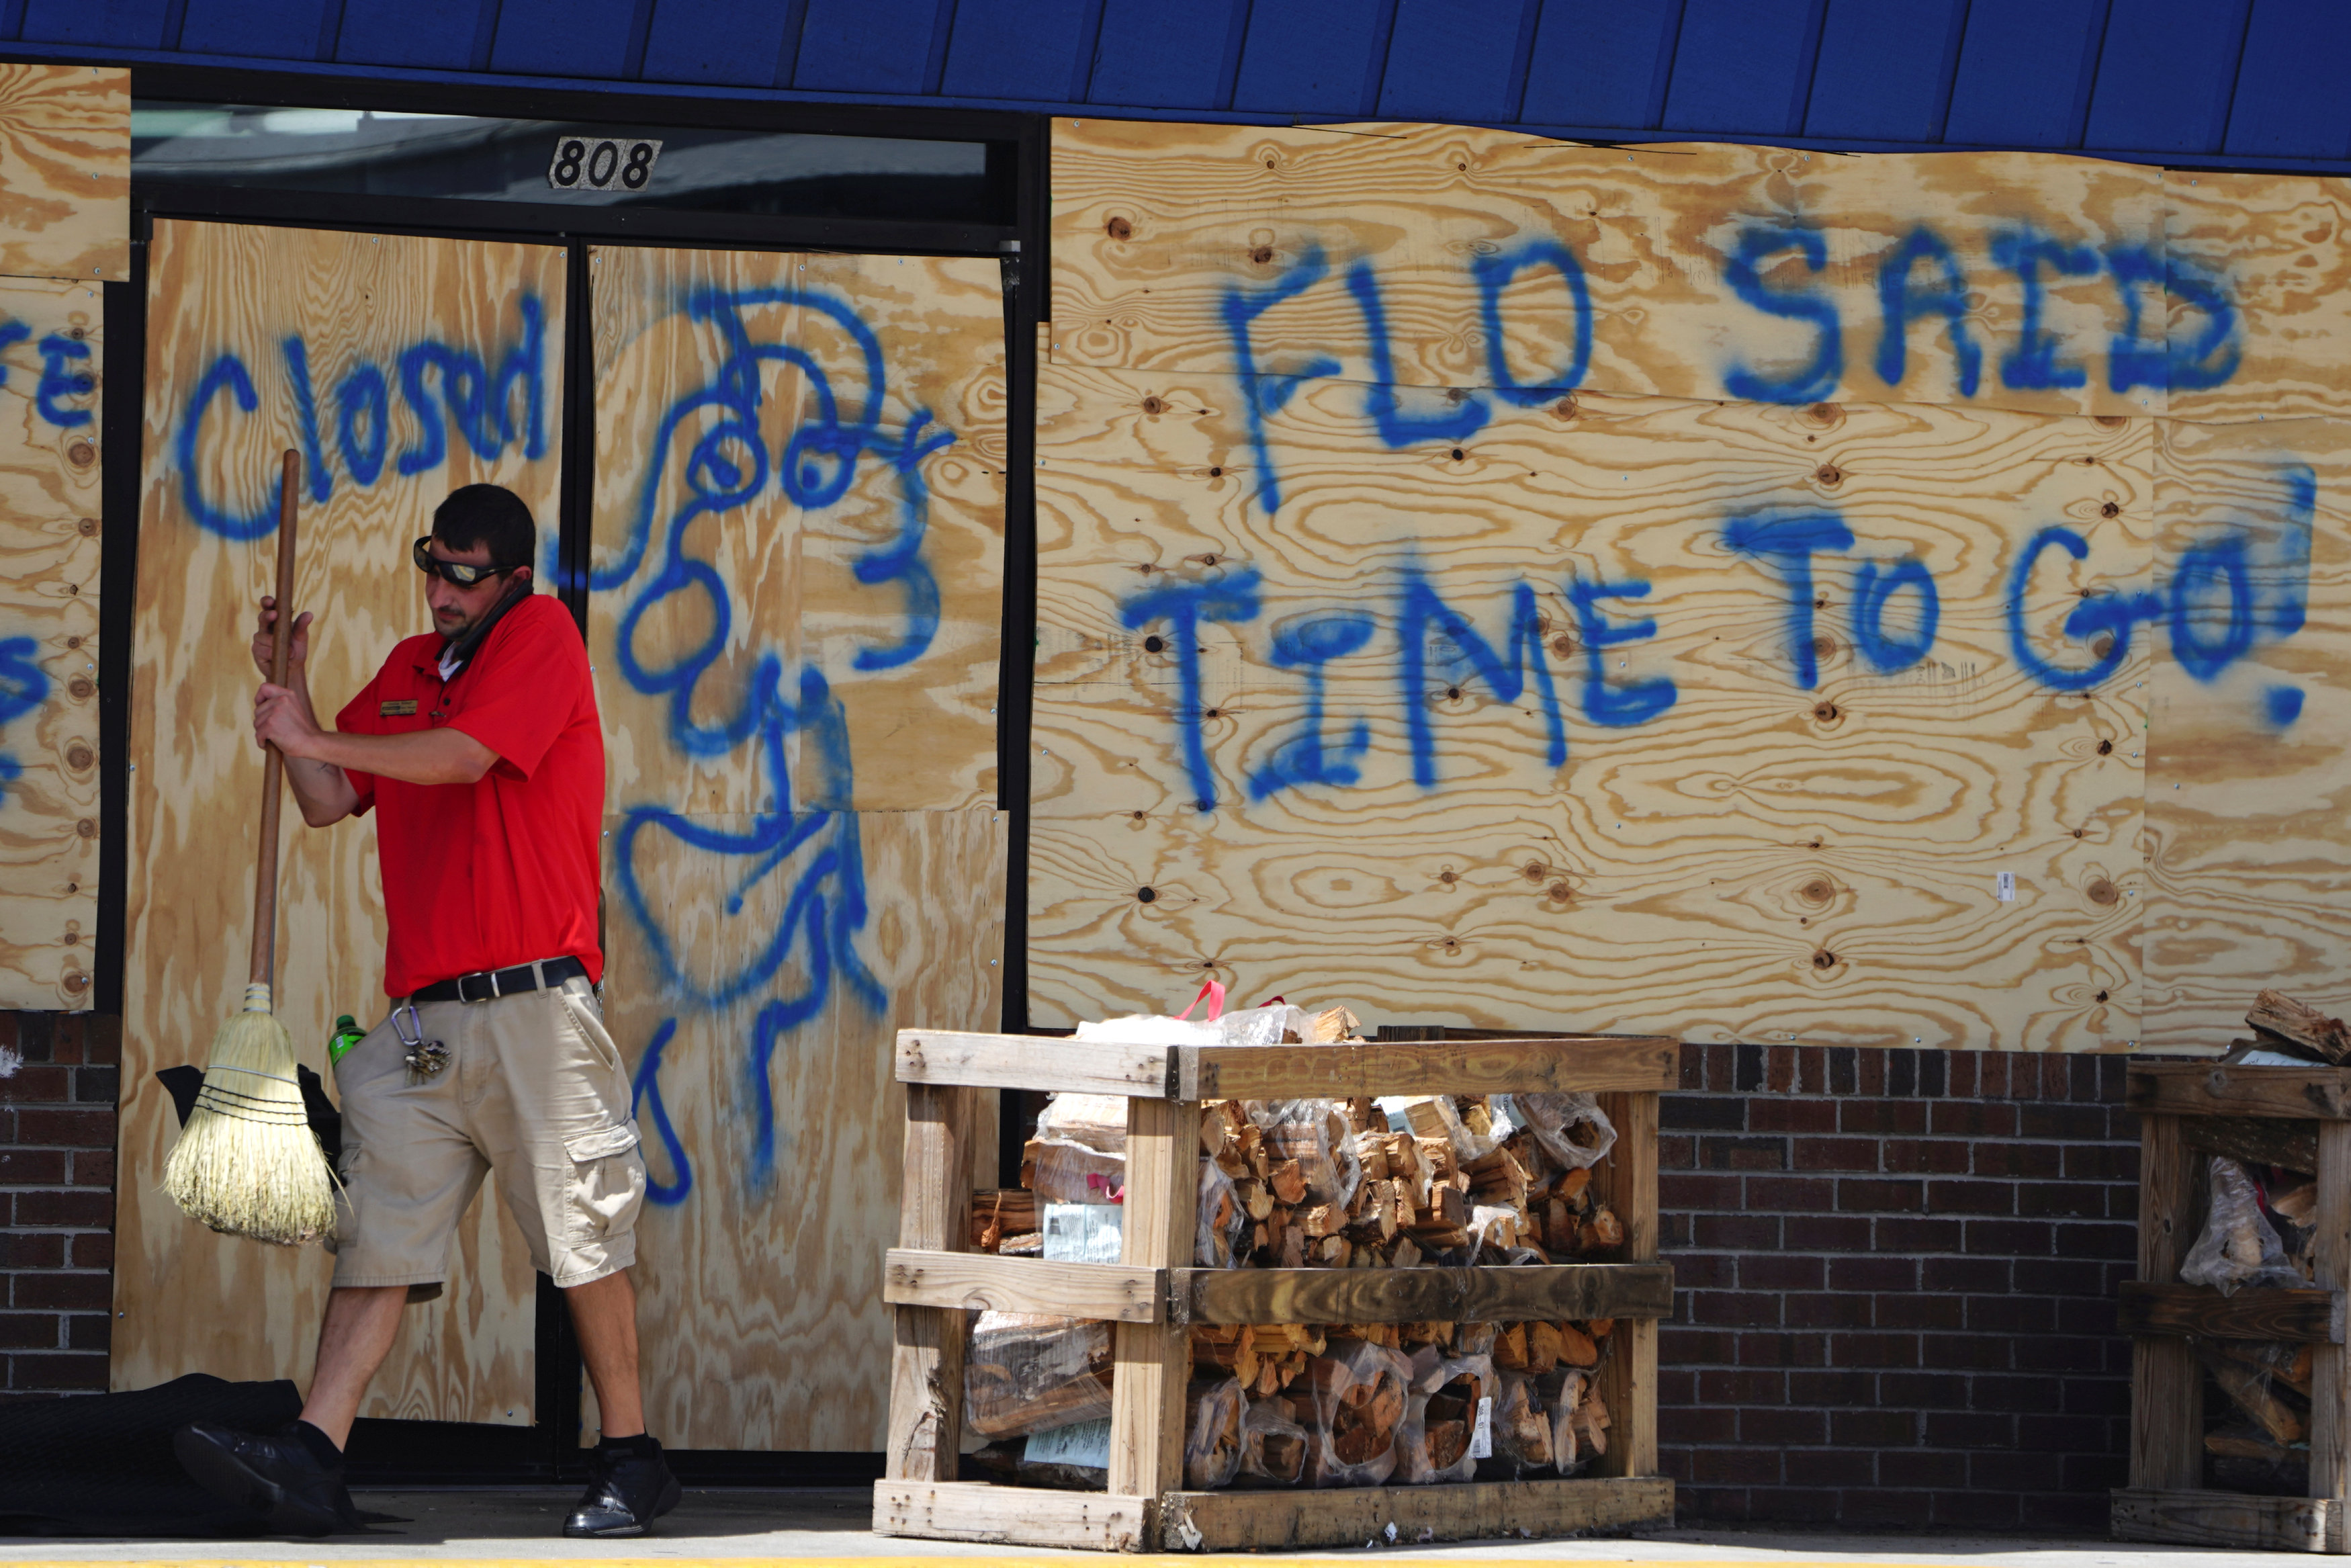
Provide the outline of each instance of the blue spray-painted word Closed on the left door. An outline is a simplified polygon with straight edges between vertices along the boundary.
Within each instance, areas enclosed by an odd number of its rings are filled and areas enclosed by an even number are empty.
[[[482,458],[494,458],[508,447],[522,449],[524,458],[541,458],[548,451],[548,343],[545,306],[536,294],[522,294],[515,306],[517,334],[503,350],[489,355],[456,348],[435,339],[409,343],[393,355],[393,371],[400,378],[400,397],[416,425],[414,442],[393,458],[400,475],[430,473],[449,461],[449,425],[454,423],[465,447]],[[59,339],[52,339],[52,343]],[[47,343],[42,346],[47,350]],[[73,343],[87,355],[87,346]],[[320,425],[320,397],[313,378],[310,350],[301,336],[277,343],[284,362],[287,395],[294,402],[294,425],[301,433],[310,498],[324,503],[334,498],[334,468],[327,456],[324,430]],[[61,355],[52,371],[68,378]],[[52,371],[42,374],[42,386]],[[343,475],[360,489],[371,487],[383,475],[390,449],[390,390],[383,367],[360,360],[343,371],[334,388],[336,442],[343,458]],[[261,409],[252,369],[235,350],[221,350],[195,381],[179,414],[179,433],[172,447],[179,465],[179,496],[188,517],[221,538],[263,538],[277,529],[277,501],[263,494],[237,503],[228,496],[209,496],[202,480],[202,447],[207,421],[230,418],[216,404],[235,404],[237,414]]]

